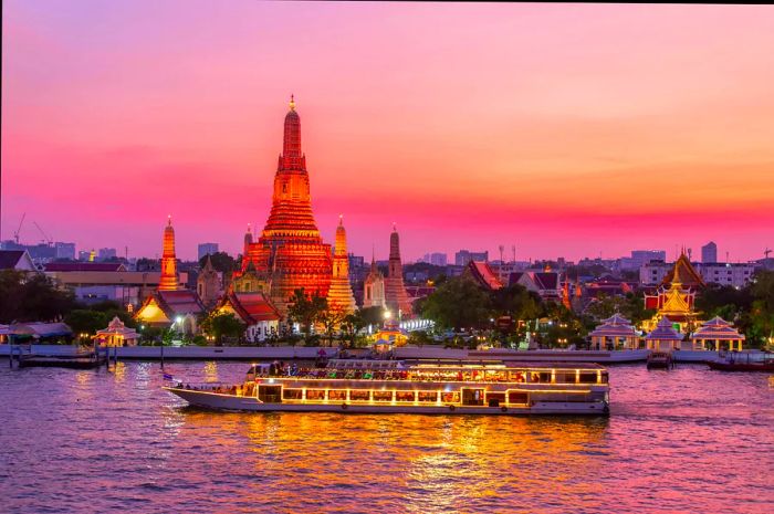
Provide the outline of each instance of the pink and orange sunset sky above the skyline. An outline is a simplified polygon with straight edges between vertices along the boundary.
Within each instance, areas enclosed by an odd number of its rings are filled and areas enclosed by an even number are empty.
[[[2,42],[2,239],[236,253],[294,93],[358,254],[774,246],[771,6],[7,0]]]

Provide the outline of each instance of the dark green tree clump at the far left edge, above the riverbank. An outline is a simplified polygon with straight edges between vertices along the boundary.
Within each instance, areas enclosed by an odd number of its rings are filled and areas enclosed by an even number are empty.
[[[41,274],[0,271],[0,323],[51,322],[75,307],[69,291],[61,291]]]

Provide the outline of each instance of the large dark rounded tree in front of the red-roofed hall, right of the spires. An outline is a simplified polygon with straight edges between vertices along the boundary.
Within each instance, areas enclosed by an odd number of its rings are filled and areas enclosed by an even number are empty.
[[[422,303],[422,315],[440,328],[477,328],[489,324],[492,302],[472,280],[456,276]]]

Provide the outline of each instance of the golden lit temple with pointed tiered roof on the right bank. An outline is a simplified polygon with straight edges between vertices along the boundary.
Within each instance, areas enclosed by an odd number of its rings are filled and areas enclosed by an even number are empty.
[[[695,295],[703,287],[704,281],[682,252],[658,290],[645,295],[645,308],[656,310],[656,315],[644,322],[642,327],[652,331],[661,318],[668,317],[680,332],[692,332],[700,323],[694,308]]]

